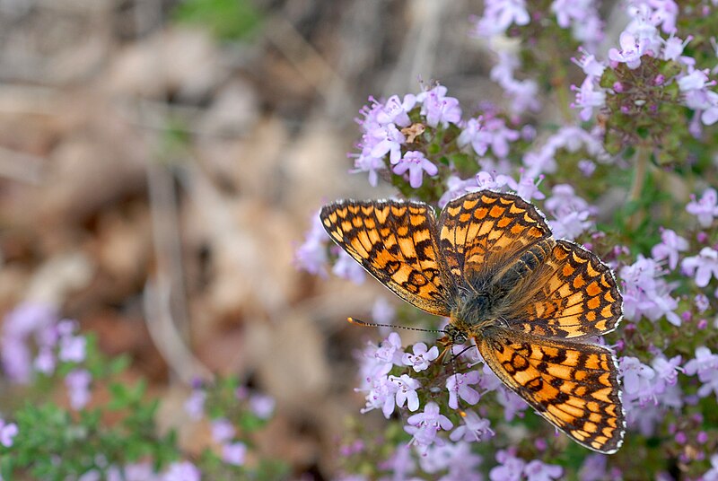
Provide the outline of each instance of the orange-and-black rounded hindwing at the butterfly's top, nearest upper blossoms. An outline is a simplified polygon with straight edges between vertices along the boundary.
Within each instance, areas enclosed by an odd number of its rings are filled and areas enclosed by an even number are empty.
[[[474,290],[501,278],[531,246],[553,242],[536,207],[490,190],[452,200],[442,210],[438,231],[444,269]]]

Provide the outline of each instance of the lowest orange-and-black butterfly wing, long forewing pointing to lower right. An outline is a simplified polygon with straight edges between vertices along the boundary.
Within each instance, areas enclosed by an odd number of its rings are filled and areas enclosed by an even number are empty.
[[[508,328],[482,334],[475,340],[486,364],[539,415],[586,448],[620,448],[626,423],[609,348]]]

